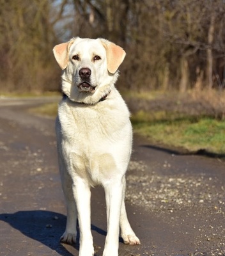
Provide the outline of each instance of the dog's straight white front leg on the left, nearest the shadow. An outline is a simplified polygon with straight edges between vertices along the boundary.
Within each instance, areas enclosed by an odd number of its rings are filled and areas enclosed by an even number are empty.
[[[85,180],[74,179],[73,192],[77,204],[77,214],[80,230],[79,256],[93,256],[93,237],[91,235],[91,191]]]

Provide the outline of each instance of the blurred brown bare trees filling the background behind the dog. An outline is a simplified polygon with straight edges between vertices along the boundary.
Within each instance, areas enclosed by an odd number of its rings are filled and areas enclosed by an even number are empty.
[[[0,0],[1,90],[56,88],[52,47],[72,36],[104,37],[125,48],[122,88],[224,88],[225,3],[207,3]]]

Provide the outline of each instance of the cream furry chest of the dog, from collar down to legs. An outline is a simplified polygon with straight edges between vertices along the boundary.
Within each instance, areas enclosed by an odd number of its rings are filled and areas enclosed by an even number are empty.
[[[119,172],[125,172],[132,141],[127,108],[111,108],[106,104],[89,107],[75,104],[72,108],[63,102],[58,117],[59,141],[65,159],[72,166],[71,172],[88,179],[91,186],[111,179],[118,166]]]

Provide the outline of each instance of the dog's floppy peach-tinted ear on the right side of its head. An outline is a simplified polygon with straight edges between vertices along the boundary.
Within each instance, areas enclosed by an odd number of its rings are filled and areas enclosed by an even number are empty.
[[[111,74],[114,74],[123,62],[126,52],[123,48],[108,40],[102,38],[100,40],[106,51],[107,69]]]

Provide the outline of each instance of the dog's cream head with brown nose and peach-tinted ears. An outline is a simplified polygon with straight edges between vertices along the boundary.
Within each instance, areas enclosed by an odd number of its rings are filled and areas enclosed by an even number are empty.
[[[79,37],[56,45],[53,52],[63,70],[63,92],[71,100],[88,104],[109,93],[126,54],[108,40]]]

